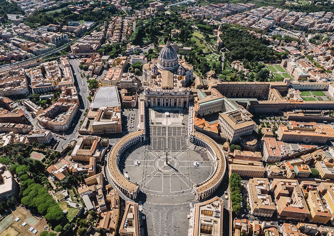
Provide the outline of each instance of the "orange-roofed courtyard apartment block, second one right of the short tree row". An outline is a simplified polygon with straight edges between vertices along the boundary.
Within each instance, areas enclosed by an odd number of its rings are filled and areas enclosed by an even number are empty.
[[[310,215],[297,180],[274,179],[270,188],[274,193],[278,218],[304,221]]]

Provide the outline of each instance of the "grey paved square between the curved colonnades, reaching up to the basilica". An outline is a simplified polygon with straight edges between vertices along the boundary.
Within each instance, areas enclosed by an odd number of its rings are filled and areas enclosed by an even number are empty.
[[[195,145],[189,143],[183,111],[178,109],[176,118],[166,117],[165,111],[173,114],[173,109],[150,110],[148,119],[153,124],[147,143],[132,147],[121,157],[120,172],[140,186],[139,201],[191,202],[195,200],[193,186],[213,174],[214,164],[206,149],[195,151]]]

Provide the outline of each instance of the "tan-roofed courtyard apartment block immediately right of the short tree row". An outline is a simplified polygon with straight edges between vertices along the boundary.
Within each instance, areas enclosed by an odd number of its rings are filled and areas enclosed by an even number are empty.
[[[248,181],[247,191],[252,215],[272,217],[276,211],[269,185],[269,180],[263,178],[253,178]]]

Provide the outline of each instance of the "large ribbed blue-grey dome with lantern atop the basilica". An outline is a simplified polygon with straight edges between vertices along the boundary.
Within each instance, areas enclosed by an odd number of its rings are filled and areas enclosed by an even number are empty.
[[[179,66],[176,50],[167,41],[166,46],[163,47],[158,57],[158,67],[163,70],[174,70]]]

